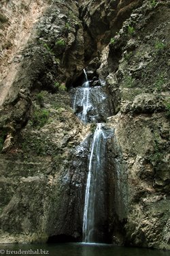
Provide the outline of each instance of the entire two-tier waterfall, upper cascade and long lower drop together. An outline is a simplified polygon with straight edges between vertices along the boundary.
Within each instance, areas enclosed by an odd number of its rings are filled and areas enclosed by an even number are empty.
[[[93,85],[85,81],[81,87],[73,88],[73,109],[84,124],[97,122],[90,147],[88,177],[83,216],[83,242],[103,242],[107,236],[107,168],[106,143],[112,132],[105,128],[105,118],[109,116],[107,95],[104,85]],[[102,120],[102,121],[101,121]]]

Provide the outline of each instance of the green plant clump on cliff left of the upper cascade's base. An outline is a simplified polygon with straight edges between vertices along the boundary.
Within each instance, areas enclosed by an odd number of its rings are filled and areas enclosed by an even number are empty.
[[[47,122],[50,116],[50,112],[46,109],[36,109],[33,113],[32,125],[35,128],[43,127]]]

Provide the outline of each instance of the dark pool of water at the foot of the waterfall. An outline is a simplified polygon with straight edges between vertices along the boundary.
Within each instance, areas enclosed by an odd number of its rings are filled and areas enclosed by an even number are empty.
[[[0,255],[50,256],[169,256],[169,251],[109,244],[0,244]]]

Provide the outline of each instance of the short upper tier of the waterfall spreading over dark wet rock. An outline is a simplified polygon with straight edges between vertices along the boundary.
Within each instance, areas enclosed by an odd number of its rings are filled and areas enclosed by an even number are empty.
[[[93,85],[92,81],[88,80],[85,69],[83,74],[84,82],[71,89],[74,113],[84,124],[105,122],[106,117],[110,116],[105,85],[100,81],[97,85],[96,83]]]

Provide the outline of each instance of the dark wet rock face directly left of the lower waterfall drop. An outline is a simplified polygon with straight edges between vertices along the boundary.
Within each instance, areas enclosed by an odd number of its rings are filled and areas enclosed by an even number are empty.
[[[49,236],[60,242],[62,235],[75,241],[82,241],[82,220],[84,213],[84,191],[88,168],[89,137],[75,147],[71,162],[63,169],[58,182],[60,186],[54,192],[54,205],[50,205],[47,220]],[[62,196],[61,196],[62,195]]]

